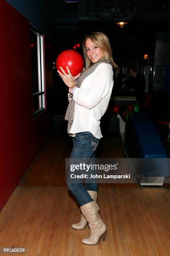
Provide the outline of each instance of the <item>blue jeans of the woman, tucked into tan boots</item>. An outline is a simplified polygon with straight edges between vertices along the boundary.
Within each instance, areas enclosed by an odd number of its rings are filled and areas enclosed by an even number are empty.
[[[96,138],[90,132],[81,132],[76,133],[76,136],[73,137],[73,148],[71,152],[70,158],[95,158],[95,149],[100,141],[100,139]],[[97,191],[98,184],[97,183],[85,183],[85,187],[83,183],[67,183],[68,189],[70,189],[75,195],[80,206],[87,204],[88,202],[92,202],[92,198],[90,197],[87,190]]]

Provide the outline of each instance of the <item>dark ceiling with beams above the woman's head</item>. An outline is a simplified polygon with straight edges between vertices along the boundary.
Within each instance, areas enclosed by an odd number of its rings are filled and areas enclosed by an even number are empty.
[[[118,31],[117,21],[127,21],[123,30],[169,31],[170,0],[51,0],[50,24],[56,33],[82,32],[100,28]]]

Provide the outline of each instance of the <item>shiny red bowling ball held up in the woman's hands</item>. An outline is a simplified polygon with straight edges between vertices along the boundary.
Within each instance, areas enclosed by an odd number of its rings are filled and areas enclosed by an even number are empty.
[[[77,74],[82,72],[82,69],[84,67],[84,61],[82,59],[82,56],[74,50],[62,51],[56,59],[56,68],[62,73],[60,69],[60,67],[62,67],[64,71],[68,74],[66,66],[68,66],[68,68],[70,69],[73,77],[77,76]]]

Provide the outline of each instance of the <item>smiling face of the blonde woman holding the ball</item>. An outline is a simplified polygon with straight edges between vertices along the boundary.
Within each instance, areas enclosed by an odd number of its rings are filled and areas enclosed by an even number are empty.
[[[103,59],[104,53],[100,48],[98,48],[90,38],[87,38],[85,41],[85,49],[87,52],[87,57],[92,61],[92,63],[96,63]]]

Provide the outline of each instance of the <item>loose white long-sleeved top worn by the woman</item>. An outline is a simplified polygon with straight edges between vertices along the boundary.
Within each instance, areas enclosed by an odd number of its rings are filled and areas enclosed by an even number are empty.
[[[81,87],[76,88],[73,94],[75,110],[70,136],[89,131],[96,138],[102,137],[100,119],[107,110],[112,87],[112,66],[101,63],[83,80]]]

